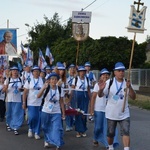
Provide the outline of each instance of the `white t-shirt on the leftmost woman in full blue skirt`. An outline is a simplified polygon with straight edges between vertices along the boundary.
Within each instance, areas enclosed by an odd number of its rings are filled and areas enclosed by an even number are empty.
[[[21,92],[19,89],[22,87],[22,81],[19,78],[7,78],[4,85],[8,85],[7,98],[8,102],[21,102]]]

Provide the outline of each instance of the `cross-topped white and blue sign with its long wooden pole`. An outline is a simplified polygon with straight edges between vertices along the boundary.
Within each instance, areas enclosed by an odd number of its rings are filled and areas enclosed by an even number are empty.
[[[134,5],[138,5],[137,10],[135,9]],[[130,81],[136,33],[144,33],[145,14],[146,14],[146,8],[147,8],[146,6],[143,6],[144,3],[141,3],[141,0],[138,0],[138,2],[134,1],[134,5],[131,5],[129,26],[127,27],[128,32],[134,33],[132,50],[131,50],[131,55],[130,55],[130,62],[129,62],[129,69],[128,69],[128,76],[127,76],[128,81]],[[140,10],[140,5],[143,6],[141,10]],[[125,110],[126,101],[127,101],[127,92],[128,92],[128,88],[126,88],[126,90],[125,90],[125,97],[124,97],[124,103],[122,106],[122,112],[124,112],[124,110]]]

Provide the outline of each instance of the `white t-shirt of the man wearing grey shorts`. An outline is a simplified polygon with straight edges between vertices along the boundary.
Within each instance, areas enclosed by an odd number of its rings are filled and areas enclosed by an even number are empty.
[[[108,86],[110,79],[106,81],[106,87],[104,89],[105,96],[108,95]],[[119,89],[121,87],[120,92]],[[128,92],[126,97],[125,111],[122,112],[124,97],[125,97],[126,81],[118,82],[115,78],[110,87],[110,92],[108,96],[108,102],[106,105],[106,118],[112,120],[123,120],[130,116],[128,107]],[[116,93],[118,92],[117,96]]]

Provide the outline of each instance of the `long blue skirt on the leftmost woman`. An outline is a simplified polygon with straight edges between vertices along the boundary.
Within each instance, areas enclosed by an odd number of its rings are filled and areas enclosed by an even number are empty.
[[[24,122],[24,110],[21,102],[7,102],[6,124],[11,129],[19,129]]]

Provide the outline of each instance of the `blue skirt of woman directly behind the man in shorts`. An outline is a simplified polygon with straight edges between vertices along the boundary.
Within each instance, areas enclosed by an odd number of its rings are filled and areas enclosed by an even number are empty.
[[[94,140],[103,143],[108,147],[107,142],[107,119],[105,117],[105,112],[94,111]],[[116,129],[116,134],[114,137],[114,147],[119,146],[118,140],[118,130]]]

